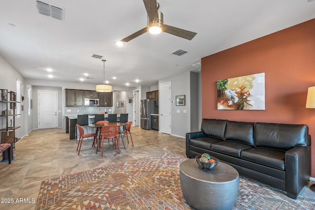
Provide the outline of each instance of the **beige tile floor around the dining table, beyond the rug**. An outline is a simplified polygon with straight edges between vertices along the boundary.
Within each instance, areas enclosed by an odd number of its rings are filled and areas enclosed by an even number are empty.
[[[76,140],[69,140],[61,129],[31,131],[15,144],[11,164],[0,162],[0,209],[34,210],[43,180],[163,151],[185,153],[184,138],[138,127],[132,127],[131,133],[134,147],[125,137],[126,150],[120,141],[121,154],[118,154],[112,142],[105,140],[101,157],[100,152],[95,154],[93,140],[83,141],[78,156]],[[13,203],[9,203],[11,199]]]

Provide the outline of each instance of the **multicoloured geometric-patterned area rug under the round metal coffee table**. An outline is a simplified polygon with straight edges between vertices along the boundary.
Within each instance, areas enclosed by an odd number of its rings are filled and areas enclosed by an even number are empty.
[[[185,154],[166,152],[42,181],[36,210],[190,210],[179,165]],[[192,192],[193,193],[193,192]],[[315,199],[241,177],[235,210],[315,210]]]

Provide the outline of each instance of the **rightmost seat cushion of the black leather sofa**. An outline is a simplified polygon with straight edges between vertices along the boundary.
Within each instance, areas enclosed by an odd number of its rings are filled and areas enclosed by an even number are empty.
[[[270,166],[280,170],[284,170],[285,152],[267,148],[252,148],[244,150],[241,158],[255,163]]]

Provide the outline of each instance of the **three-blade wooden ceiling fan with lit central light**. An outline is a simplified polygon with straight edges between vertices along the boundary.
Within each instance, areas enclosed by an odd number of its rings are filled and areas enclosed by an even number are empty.
[[[159,3],[157,0],[143,0],[144,6],[146,7],[148,13],[148,26],[138,30],[137,32],[127,36],[126,38],[122,39],[121,42],[128,42],[141,34],[149,31],[150,33],[160,33],[164,31],[166,33],[182,37],[184,39],[191,40],[197,33],[184,30],[182,28],[168,26],[163,23],[163,13],[158,11]]]

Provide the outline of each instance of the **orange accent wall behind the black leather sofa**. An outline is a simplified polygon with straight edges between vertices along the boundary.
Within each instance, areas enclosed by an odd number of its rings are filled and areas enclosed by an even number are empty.
[[[202,118],[308,125],[315,178],[315,108],[305,108],[315,86],[315,19],[204,57],[201,69]],[[265,73],[265,110],[217,109],[217,80],[257,73]]]

